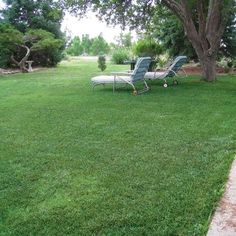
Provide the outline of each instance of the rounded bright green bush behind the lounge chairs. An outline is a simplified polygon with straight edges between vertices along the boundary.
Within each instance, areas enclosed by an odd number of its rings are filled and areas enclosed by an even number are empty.
[[[149,56],[155,58],[156,56],[162,53],[162,48],[160,44],[150,38],[138,40],[138,42],[134,45],[133,50],[134,54],[138,57]]]

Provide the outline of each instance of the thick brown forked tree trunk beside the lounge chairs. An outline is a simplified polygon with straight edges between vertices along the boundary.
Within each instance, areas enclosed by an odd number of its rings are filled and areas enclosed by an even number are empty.
[[[216,79],[216,55],[220,48],[220,41],[225,29],[223,0],[209,0],[208,7],[204,0],[196,1],[194,11],[187,0],[162,0],[183,22],[185,32],[195,49],[202,66],[203,79]],[[197,13],[197,23],[193,20],[193,13]]]

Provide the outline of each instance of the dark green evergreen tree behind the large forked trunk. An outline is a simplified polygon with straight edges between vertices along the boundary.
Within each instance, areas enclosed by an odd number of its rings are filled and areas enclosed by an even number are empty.
[[[235,6],[232,6],[235,8]],[[220,44],[220,55],[233,58],[236,55],[236,9],[228,16],[227,26]],[[196,20],[195,20],[196,21]],[[189,42],[181,21],[166,7],[160,7],[150,22],[148,32],[152,37],[161,41],[169,55],[186,55],[189,59],[197,60],[197,55]]]

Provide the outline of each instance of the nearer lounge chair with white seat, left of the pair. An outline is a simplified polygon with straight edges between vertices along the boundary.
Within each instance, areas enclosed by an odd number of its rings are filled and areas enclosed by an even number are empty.
[[[150,57],[140,57],[135,65],[135,68],[131,72],[112,72],[110,75],[100,75],[91,79],[93,88],[96,85],[113,84],[113,92],[115,91],[116,84],[129,84],[133,88],[133,95],[140,94],[149,90],[149,87],[144,79],[144,75],[148,70],[151,63]],[[135,83],[142,81],[144,83],[143,90],[138,91],[135,87]]]

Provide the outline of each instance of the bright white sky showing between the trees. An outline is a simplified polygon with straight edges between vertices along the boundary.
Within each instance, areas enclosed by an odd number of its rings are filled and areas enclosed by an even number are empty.
[[[2,0],[0,0],[0,9],[4,6]],[[115,37],[121,33],[119,26],[107,26],[106,23],[100,22],[94,13],[89,12],[87,17],[82,19],[71,16],[66,13],[64,20],[62,22],[62,31],[67,31],[67,35],[70,36],[82,36],[83,34],[88,34],[90,38],[97,37],[102,33],[104,39],[111,43],[115,41]],[[127,33],[127,31],[125,32]],[[134,32],[132,32],[133,39],[136,38]]]

